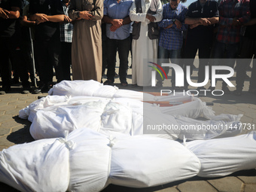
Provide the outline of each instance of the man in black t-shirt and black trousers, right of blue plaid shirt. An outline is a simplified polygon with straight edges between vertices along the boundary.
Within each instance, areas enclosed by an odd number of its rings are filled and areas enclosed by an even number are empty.
[[[209,65],[213,30],[215,23],[218,23],[218,16],[218,2],[215,0],[197,0],[197,2],[191,3],[188,7],[185,24],[189,25],[189,29],[187,30],[184,62],[185,67],[190,66],[191,75],[193,72],[194,58],[197,50],[199,50],[198,83],[202,83],[205,80],[205,67]],[[185,84],[185,88],[187,88],[186,81]]]

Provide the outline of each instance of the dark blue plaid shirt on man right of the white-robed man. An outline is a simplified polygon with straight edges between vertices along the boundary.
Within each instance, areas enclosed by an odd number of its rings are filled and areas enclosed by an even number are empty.
[[[178,50],[182,47],[183,37],[182,31],[187,30],[187,25],[184,24],[187,8],[184,5],[178,4],[174,10],[169,3],[163,5],[163,20],[158,23],[160,26],[159,46],[167,50]],[[182,24],[181,29],[178,29],[175,24],[171,28],[164,29],[172,24],[172,19],[179,20]]]

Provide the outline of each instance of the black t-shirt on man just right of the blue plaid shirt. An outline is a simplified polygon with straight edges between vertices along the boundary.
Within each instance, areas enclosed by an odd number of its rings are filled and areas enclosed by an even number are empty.
[[[200,5],[200,1],[193,2],[189,5],[187,11],[187,17],[191,18],[210,18],[219,17],[218,14],[218,2],[214,0],[208,0],[203,7]],[[194,29],[187,30],[187,39],[191,41],[203,42],[212,41],[214,26],[197,26]]]

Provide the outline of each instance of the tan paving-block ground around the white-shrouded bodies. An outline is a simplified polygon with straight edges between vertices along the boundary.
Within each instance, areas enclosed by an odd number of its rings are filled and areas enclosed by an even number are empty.
[[[128,74],[128,82],[131,84],[131,69],[129,69]],[[248,75],[250,75],[250,72],[248,72]],[[103,79],[103,81],[104,80],[105,79]],[[118,81],[118,78],[116,78],[116,83],[117,87],[120,87],[120,82]],[[164,86],[166,85],[168,86],[168,82],[165,82]],[[131,90],[142,90],[139,87],[133,87],[131,85],[125,88]],[[220,84],[217,84],[217,88],[220,88]],[[19,88],[14,88],[14,91],[12,93],[0,96],[0,150],[2,150],[3,148],[8,148],[12,145],[33,141],[32,136],[30,136],[29,134],[29,126],[31,123],[29,123],[28,120],[22,120],[18,117],[19,110],[25,108],[31,102],[38,99],[38,96],[47,96],[47,93],[40,95],[22,95],[19,92]],[[242,123],[256,124],[256,95],[248,93],[248,81],[245,82],[245,89],[242,96],[234,96],[231,94],[224,96],[203,96],[200,97],[200,99],[206,102],[213,102],[212,108],[216,112],[216,114],[244,114],[241,120]],[[249,131],[250,130],[243,130],[243,133],[248,133]],[[0,191],[12,192],[17,190],[9,187],[6,184],[0,183]],[[209,179],[194,177],[186,181],[178,181],[170,184],[164,184],[158,187],[149,187],[143,189],[109,185],[103,191],[254,192],[256,191],[256,170],[251,169],[247,171],[236,172],[233,175],[229,175],[224,178]]]

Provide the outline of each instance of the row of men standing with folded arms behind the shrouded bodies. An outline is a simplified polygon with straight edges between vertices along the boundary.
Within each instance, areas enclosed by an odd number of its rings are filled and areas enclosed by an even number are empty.
[[[151,86],[152,68],[145,59],[168,59],[184,72],[190,66],[191,75],[198,53],[197,82],[205,81],[206,66],[233,68],[236,63],[234,93],[241,95],[256,53],[256,1],[197,0],[188,7],[184,2],[0,0],[0,94],[8,93],[11,84],[18,81],[22,82],[22,93],[30,93],[37,82],[35,70],[40,81],[34,92],[47,92],[53,85],[53,68],[60,82],[71,80],[71,66],[72,80],[101,82],[107,69],[104,84],[114,85],[118,52],[123,87],[128,86],[130,53],[132,85],[139,87]],[[215,62],[210,62],[212,59]],[[163,70],[168,74],[169,67]],[[249,92],[256,93],[255,63],[251,70]],[[174,70],[171,77],[175,87]],[[159,75],[156,86],[163,86]],[[187,86],[185,81],[184,89]],[[221,89],[230,93],[224,81]]]

